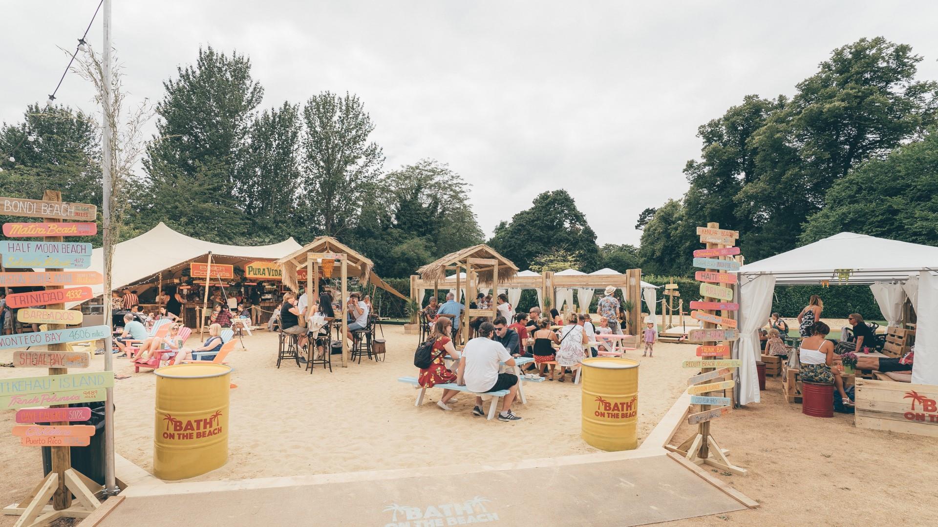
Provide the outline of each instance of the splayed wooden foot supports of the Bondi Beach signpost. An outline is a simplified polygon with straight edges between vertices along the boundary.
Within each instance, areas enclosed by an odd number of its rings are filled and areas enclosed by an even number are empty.
[[[77,498],[78,504],[71,505],[62,510],[55,510],[48,504],[58,489],[58,474],[49,473],[38,483],[35,489],[26,494],[20,504],[11,504],[3,509],[3,513],[10,516],[19,516],[14,527],[38,527],[48,525],[59,518],[87,518],[101,503],[98,501],[95,490],[99,487],[87,476],[75,469],[65,471],[65,486]]]

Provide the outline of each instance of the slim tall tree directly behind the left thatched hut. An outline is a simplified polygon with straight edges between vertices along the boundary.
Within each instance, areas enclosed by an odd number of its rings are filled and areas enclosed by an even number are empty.
[[[323,92],[307,101],[303,121],[302,207],[323,233],[348,233],[385,162],[369,141],[371,116],[356,96]]]

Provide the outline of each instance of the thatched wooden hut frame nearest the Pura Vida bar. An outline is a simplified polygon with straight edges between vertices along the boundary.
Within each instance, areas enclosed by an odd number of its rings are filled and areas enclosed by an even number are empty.
[[[374,282],[374,285],[392,294],[396,294],[404,300],[407,300],[407,297],[389,286],[385,280],[372,272],[374,263],[371,262],[371,260],[331,236],[319,236],[306,247],[296,250],[289,256],[280,258],[277,264],[280,266],[283,284],[295,292],[299,292],[296,271],[301,267],[305,267],[307,294],[310,294],[310,292],[316,292],[316,294],[318,294],[319,267],[323,263],[323,260],[335,260],[340,262],[340,320],[342,324],[340,339],[342,342],[342,368],[348,368],[348,346],[345,341],[345,336],[348,333],[349,272],[352,273],[352,276],[359,279],[362,285],[367,284],[371,280]],[[333,273],[333,276],[334,275],[335,273]],[[331,349],[325,350],[327,354],[331,352]]]

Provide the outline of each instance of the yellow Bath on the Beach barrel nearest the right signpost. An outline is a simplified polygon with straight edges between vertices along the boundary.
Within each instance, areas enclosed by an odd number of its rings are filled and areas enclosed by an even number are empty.
[[[587,444],[601,450],[632,450],[638,445],[639,363],[628,358],[583,360],[582,432]]]

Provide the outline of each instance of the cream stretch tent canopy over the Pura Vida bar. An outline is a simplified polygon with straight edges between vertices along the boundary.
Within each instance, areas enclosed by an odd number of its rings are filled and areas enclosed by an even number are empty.
[[[216,244],[176,233],[160,221],[153,229],[114,246],[111,285],[113,289],[120,289],[125,285],[140,283],[155,277],[164,269],[199,260],[209,252],[245,260],[277,260],[299,248],[300,245],[293,237],[279,244],[255,247]],[[103,274],[103,261],[104,249],[93,249],[91,267],[76,271],[98,271]],[[103,294],[104,286],[93,285],[91,292],[95,296]],[[71,302],[66,308],[70,309],[78,304],[81,302]]]

